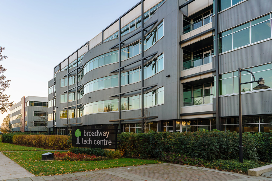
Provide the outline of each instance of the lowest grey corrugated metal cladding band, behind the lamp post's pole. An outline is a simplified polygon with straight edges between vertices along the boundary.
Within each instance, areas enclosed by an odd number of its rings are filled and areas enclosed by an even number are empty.
[[[219,97],[220,116],[238,116],[238,95]],[[242,94],[242,115],[272,113],[272,90]]]

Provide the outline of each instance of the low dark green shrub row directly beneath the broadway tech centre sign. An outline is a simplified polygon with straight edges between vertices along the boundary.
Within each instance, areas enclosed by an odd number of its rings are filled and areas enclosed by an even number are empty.
[[[108,151],[103,150],[102,148],[78,148],[78,147],[71,147],[69,152],[75,154],[88,154],[88,155],[96,155],[100,157],[107,157],[110,159],[120,158],[121,154],[119,151]]]

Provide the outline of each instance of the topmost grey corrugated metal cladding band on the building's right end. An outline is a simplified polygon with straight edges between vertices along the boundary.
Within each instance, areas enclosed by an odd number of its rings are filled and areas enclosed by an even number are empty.
[[[247,0],[218,14],[218,31],[235,27],[272,11],[271,0]]]

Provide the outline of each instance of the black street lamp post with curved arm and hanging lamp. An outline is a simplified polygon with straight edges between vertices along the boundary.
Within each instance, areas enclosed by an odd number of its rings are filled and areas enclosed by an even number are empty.
[[[241,72],[242,71],[247,71],[249,73],[251,73],[251,75],[253,76],[254,81],[251,82],[244,82],[241,83]],[[268,89],[270,87],[264,85],[264,79],[263,78],[259,78],[258,81],[255,81],[255,77],[253,75],[253,73],[251,71],[248,70],[241,70],[241,68],[238,68],[238,92],[239,92],[239,161],[241,163],[243,163],[243,146],[242,146],[242,100],[241,100],[241,85],[242,84],[248,84],[248,83],[254,83],[254,82],[258,82],[258,85],[256,87],[254,87],[254,90],[259,90],[259,89]]]

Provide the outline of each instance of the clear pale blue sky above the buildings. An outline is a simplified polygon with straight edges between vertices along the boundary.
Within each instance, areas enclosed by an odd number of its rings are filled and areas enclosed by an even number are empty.
[[[140,0],[0,0],[5,94],[47,97],[53,68]],[[8,113],[0,114],[0,125]]]

